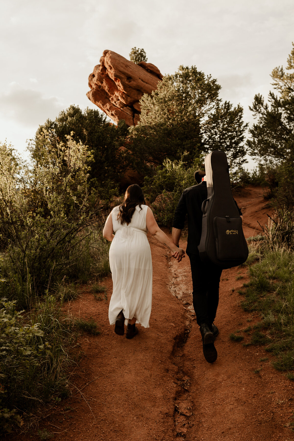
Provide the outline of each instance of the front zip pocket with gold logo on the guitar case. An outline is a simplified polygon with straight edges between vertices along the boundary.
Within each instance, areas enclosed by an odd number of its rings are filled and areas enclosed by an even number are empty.
[[[216,257],[221,261],[246,260],[241,217],[215,217]]]

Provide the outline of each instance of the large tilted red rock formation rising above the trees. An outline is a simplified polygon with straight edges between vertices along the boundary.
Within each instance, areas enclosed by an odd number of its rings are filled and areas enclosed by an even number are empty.
[[[116,123],[125,120],[128,126],[133,126],[139,120],[140,98],[155,90],[162,78],[154,64],[145,61],[135,64],[105,50],[100,64],[89,75],[91,90],[87,97]]]

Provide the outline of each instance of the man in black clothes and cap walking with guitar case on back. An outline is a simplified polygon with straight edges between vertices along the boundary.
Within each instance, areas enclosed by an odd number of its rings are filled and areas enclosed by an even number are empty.
[[[208,363],[213,363],[217,358],[214,340],[219,331],[213,321],[219,303],[220,275],[222,269],[211,263],[201,261],[198,245],[202,231],[202,202],[207,199],[207,185],[205,172],[198,170],[194,173],[198,185],[186,188],[183,191],[175,210],[172,225],[172,241],[179,246],[179,239],[184,228],[186,214],[188,217],[188,241],[186,253],[190,259],[193,282],[193,306],[197,324],[200,326],[202,336],[203,354]],[[242,212],[239,209],[242,217]]]

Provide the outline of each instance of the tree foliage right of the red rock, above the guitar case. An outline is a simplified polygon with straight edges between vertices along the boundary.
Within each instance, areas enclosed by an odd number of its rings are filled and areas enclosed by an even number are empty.
[[[130,127],[130,149],[137,168],[162,164],[165,158],[180,160],[184,151],[191,165],[195,157],[214,149],[227,153],[230,167],[246,162],[243,109],[222,102],[219,91],[220,85],[211,75],[194,66],[180,66],[151,95],[144,94],[140,121]]]

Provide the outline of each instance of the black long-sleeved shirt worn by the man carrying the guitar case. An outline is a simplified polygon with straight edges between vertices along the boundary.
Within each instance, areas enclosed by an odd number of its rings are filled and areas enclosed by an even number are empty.
[[[193,187],[186,188],[180,197],[177,208],[175,209],[175,217],[172,226],[182,230],[184,228],[184,222],[186,214],[188,215],[188,243],[187,254],[198,254],[198,245],[201,239],[202,231],[202,202],[207,199],[207,185],[206,181],[202,181],[200,184]],[[237,202],[235,204],[238,208],[240,216],[242,211],[239,209]]]

